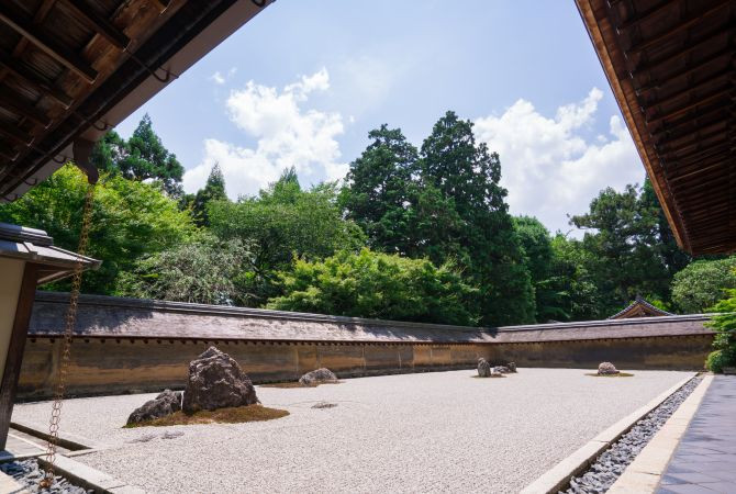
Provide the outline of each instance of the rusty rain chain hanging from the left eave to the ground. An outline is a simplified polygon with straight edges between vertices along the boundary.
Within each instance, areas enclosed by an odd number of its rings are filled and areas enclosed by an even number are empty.
[[[87,252],[89,242],[89,227],[92,220],[92,199],[94,197],[94,186],[87,186],[87,195],[85,197],[85,210],[82,213],[81,232],[79,233],[79,248],[77,249],[77,261],[74,266],[71,278],[71,297],[69,308],[66,313],[64,341],[62,344],[60,359],[58,361],[58,372],[56,374],[54,404],[52,406],[52,417],[48,423],[48,442],[46,445],[46,474],[41,481],[40,489],[49,489],[54,484],[56,447],[58,446],[59,422],[62,419],[62,404],[64,403],[64,392],[66,391],[66,379],[69,371],[69,359],[71,356],[71,336],[77,323],[77,305],[79,302],[79,290],[81,288],[81,273],[85,270],[82,257]]]

